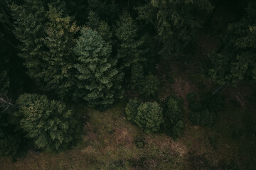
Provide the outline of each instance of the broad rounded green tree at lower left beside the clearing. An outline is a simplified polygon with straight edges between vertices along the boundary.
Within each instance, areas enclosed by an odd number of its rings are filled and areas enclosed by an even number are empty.
[[[37,94],[23,94],[17,104],[21,129],[37,148],[58,151],[68,147],[76,121],[64,103]]]

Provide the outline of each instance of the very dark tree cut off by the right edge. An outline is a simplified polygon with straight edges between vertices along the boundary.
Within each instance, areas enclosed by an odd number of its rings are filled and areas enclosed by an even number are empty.
[[[251,1],[247,16],[228,26],[223,54],[210,55],[213,68],[210,77],[218,84],[235,84],[237,81],[256,79],[256,3]]]

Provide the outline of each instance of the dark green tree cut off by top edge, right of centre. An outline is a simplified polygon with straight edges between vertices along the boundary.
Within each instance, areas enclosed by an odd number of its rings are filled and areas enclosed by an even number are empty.
[[[161,55],[164,56],[183,53],[203,24],[202,13],[212,10],[208,0],[153,0],[137,8],[139,19],[154,24],[163,43]]]

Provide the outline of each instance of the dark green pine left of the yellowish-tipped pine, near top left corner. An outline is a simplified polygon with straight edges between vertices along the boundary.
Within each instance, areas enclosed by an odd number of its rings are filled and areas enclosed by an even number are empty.
[[[21,6],[12,4],[11,11],[14,21],[14,35],[21,42],[19,56],[24,60],[28,75],[43,84],[41,72],[48,67],[43,61],[43,38],[46,37],[46,9],[41,1],[26,0]]]

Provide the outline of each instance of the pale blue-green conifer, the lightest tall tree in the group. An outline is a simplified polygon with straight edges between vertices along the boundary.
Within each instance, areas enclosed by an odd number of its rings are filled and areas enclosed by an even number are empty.
[[[76,94],[92,106],[108,106],[114,98],[122,98],[120,81],[122,74],[116,69],[117,60],[110,58],[111,47],[97,31],[82,28],[81,36],[75,46],[78,55],[78,84]]]

